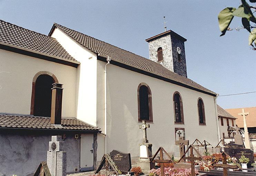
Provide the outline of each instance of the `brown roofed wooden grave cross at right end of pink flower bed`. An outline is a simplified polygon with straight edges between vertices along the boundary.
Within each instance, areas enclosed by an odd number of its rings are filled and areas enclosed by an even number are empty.
[[[190,149],[190,155],[186,157],[186,153],[188,153],[188,150]],[[195,150],[195,152],[197,153],[198,157],[194,156],[193,154],[193,149]],[[189,145],[189,147],[187,148],[186,152],[182,155],[182,157],[179,159],[179,161],[177,163],[179,163],[181,161],[181,159],[184,160],[189,160],[191,163],[191,176],[195,176],[195,161],[196,160],[204,160],[204,158],[200,155],[200,153],[198,152],[198,150],[196,150],[196,148],[193,145]]]

